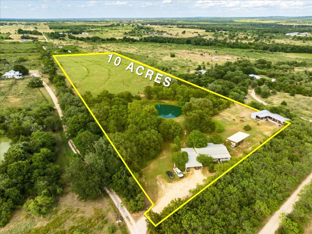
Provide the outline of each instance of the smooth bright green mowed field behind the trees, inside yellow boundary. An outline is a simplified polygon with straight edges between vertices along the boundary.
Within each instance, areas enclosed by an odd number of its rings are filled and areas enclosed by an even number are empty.
[[[110,93],[119,93],[129,91],[132,94],[142,93],[147,85],[154,85],[154,78],[149,80],[145,77],[147,67],[143,71],[142,76],[138,76],[135,72],[139,66],[134,63],[134,72],[125,69],[131,63],[130,60],[121,58],[119,66],[114,65],[114,55],[110,63],[109,56],[106,55],[83,55],[83,56],[64,56],[57,57],[61,66],[74,83],[78,91],[83,95],[86,91],[90,91],[93,95],[97,95],[103,90]],[[142,69],[140,69],[142,71]],[[164,77],[161,82],[164,81]]]

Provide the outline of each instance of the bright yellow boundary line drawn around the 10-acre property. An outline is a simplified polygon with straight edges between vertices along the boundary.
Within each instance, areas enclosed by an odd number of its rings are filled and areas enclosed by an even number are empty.
[[[53,58],[55,59],[55,61],[57,62],[57,64],[60,66],[61,70],[64,72],[65,76],[67,77],[67,79],[69,80],[69,82],[71,83],[71,85],[73,86],[73,88],[75,89],[75,91],[77,92],[77,94],[79,95],[79,97],[81,98],[81,100],[83,101],[83,103],[85,104],[85,106],[87,107],[87,109],[90,111],[92,117],[95,119],[96,123],[100,126],[101,130],[103,131],[104,135],[106,136],[106,138],[109,140],[110,144],[113,146],[113,148],[115,149],[115,151],[117,152],[118,156],[121,158],[122,162],[124,163],[124,165],[127,167],[127,169],[129,170],[129,172],[131,173],[131,175],[133,176],[134,180],[136,181],[136,183],[138,183],[139,187],[142,189],[143,193],[145,194],[145,196],[149,199],[149,201],[151,202],[152,206],[149,207],[149,209],[144,212],[144,216],[147,217],[147,219],[156,227],[158,226],[160,223],[162,223],[164,220],[166,220],[168,217],[170,217],[171,215],[173,215],[174,212],[178,211],[181,207],[183,207],[186,203],[188,203],[189,201],[191,201],[194,197],[196,197],[199,193],[201,193],[202,191],[204,191],[206,188],[208,188],[210,185],[212,185],[213,183],[215,183],[218,179],[220,179],[222,176],[224,176],[226,173],[228,173],[230,170],[232,170],[234,167],[236,167],[239,163],[241,163],[244,159],[246,159],[249,155],[251,155],[252,153],[254,153],[257,149],[259,149],[261,146],[263,146],[264,144],[266,144],[269,140],[271,140],[273,137],[275,137],[277,134],[279,134],[281,131],[283,131],[285,128],[287,128],[291,123],[288,122],[288,121],[285,121],[285,123],[287,123],[286,126],[284,126],[282,129],[280,129],[278,132],[276,132],[274,135],[272,135],[269,139],[267,139],[265,142],[263,142],[261,145],[259,145],[256,149],[252,150],[249,154],[247,154],[244,158],[242,158],[241,160],[239,160],[237,163],[235,163],[231,168],[227,169],[227,171],[223,172],[220,176],[218,176],[216,179],[214,179],[211,183],[209,183],[207,186],[205,186],[204,188],[202,188],[202,190],[200,190],[198,193],[196,193],[195,195],[193,195],[191,198],[189,198],[186,202],[184,202],[181,206],[179,206],[178,208],[176,208],[173,212],[171,212],[169,215],[167,215],[166,217],[164,217],[161,221],[159,221],[158,223],[154,223],[150,217],[147,215],[147,213],[150,211],[150,209],[152,209],[154,207],[154,202],[149,198],[149,195],[147,195],[147,193],[145,192],[144,188],[141,186],[141,184],[139,183],[139,181],[137,180],[137,178],[135,178],[134,174],[132,173],[132,171],[130,170],[130,168],[128,167],[127,163],[124,161],[124,159],[121,157],[121,155],[119,154],[118,150],[116,149],[115,145],[113,144],[113,142],[110,140],[110,138],[108,137],[108,135],[105,133],[104,129],[102,128],[101,124],[99,123],[99,121],[95,118],[95,116],[93,115],[92,111],[90,110],[89,106],[86,104],[85,100],[82,98],[82,96],[80,95],[79,91],[77,90],[77,88],[75,87],[75,85],[73,84],[73,82],[71,81],[71,79],[68,77],[68,75],[66,74],[66,72],[64,71],[63,67],[61,66],[60,62],[57,60],[56,57],[63,57],[63,56],[85,56],[85,55],[105,55],[105,54],[115,54],[117,56],[120,56],[120,57],[123,57],[125,59],[128,59],[132,62],[135,62],[135,63],[138,63],[140,65],[143,65],[143,66],[146,66],[146,67],[149,67],[150,69],[153,69],[155,71],[158,71],[164,75],[167,75],[167,76],[170,76],[170,77],[173,77],[177,80],[181,80],[189,85],[193,85],[197,88],[200,88],[202,90],[205,90],[207,92],[210,92],[212,94],[215,94],[215,95],[218,95],[224,99],[227,99],[227,100],[230,100],[232,102],[235,102],[239,105],[243,105],[245,107],[248,107],[252,110],[255,110],[255,111],[259,111],[251,106],[248,106],[248,105],[245,105],[245,104],[242,104],[236,100],[233,100],[231,98],[228,98],[226,96],[223,96],[223,95],[220,95],[220,94],[217,94],[211,90],[207,90],[203,87],[200,87],[198,85],[194,85],[186,80],[182,80],[176,76],[173,76],[173,75],[170,75],[166,72],[163,72],[163,71],[160,71],[159,69],[156,69],[154,67],[151,67],[151,66],[148,66],[144,63],[141,63],[141,62],[138,62],[138,61],[135,61],[131,58],[128,58],[126,56],[123,56],[121,54],[118,54],[116,52],[104,52],[104,53],[89,53],[89,54],[70,54],[70,55],[53,55]]]

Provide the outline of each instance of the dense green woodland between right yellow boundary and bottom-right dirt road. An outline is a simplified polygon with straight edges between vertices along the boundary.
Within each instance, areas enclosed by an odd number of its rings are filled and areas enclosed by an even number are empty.
[[[271,109],[292,115],[292,124],[163,223],[154,227],[148,222],[149,232],[256,232],[312,170],[311,123],[294,117],[285,106]],[[150,212],[149,216],[157,223],[182,203],[181,199],[172,201],[160,214]]]

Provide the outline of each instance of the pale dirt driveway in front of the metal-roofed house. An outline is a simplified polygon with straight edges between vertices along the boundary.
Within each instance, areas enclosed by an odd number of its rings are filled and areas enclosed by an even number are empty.
[[[194,181],[201,181],[200,184],[203,184],[202,180],[207,179],[207,176],[204,176],[201,170],[192,170],[192,168],[190,168],[189,172],[183,172],[183,174],[186,173],[189,173],[187,178],[179,179],[174,183],[166,183],[165,180],[158,176],[158,194],[162,195],[152,208],[154,212],[161,212],[174,198],[184,198],[188,196],[188,190],[196,187]],[[174,174],[174,176],[177,177],[176,174]]]

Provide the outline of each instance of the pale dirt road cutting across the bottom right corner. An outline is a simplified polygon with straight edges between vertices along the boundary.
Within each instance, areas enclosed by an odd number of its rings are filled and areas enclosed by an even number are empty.
[[[293,210],[293,204],[298,201],[298,193],[306,184],[310,183],[312,180],[312,172],[308,175],[308,177],[299,185],[299,187],[295,190],[295,192],[284,202],[284,204],[280,207],[278,211],[276,211],[266,223],[266,225],[261,229],[258,234],[274,234],[275,231],[279,227],[280,222],[280,214],[282,212],[290,213]]]

